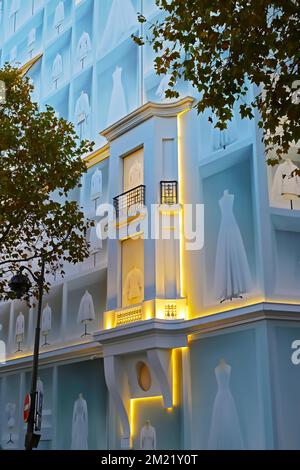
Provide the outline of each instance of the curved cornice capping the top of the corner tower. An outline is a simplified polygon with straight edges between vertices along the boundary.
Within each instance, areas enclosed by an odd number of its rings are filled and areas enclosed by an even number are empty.
[[[100,135],[105,137],[109,142],[112,142],[152,117],[173,118],[192,109],[194,103],[194,98],[190,96],[173,103],[148,102],[120,119],[112,126],[104,129],[100,132]]]

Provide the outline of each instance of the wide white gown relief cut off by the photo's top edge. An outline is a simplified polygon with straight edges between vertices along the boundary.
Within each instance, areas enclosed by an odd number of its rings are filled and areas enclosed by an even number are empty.
[[[137,12],[131,0],[112,0],[105,29],[100,42],[102,54],[116,47],[137,26]]]

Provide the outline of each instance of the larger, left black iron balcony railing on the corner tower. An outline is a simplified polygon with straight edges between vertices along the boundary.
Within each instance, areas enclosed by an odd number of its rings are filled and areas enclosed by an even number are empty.
[[[145,205],[145,193],[146,187],[141,184],[114,197],[113,204],[117,219],[136,215]]]

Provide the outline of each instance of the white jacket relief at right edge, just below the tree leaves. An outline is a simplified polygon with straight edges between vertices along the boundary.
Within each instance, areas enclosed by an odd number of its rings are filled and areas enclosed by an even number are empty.
[[[285,200],[293,209],[293,201],[300,196],[300,178],[295,170],[299,168],[290,159],[278,165],[271,190],[271,200],[275,205]]]

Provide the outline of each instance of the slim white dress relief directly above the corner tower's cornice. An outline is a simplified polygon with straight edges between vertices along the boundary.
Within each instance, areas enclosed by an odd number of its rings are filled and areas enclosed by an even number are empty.
[[[108,110],[107,124],[114,124],[127,114],[127,105],[122,83],[122,68],[116,67],[113,73],[113,89]]]

